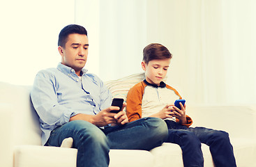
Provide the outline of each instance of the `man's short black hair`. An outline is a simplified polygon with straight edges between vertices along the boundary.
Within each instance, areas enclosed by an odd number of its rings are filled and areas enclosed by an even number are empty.
[[[87,31],[86,29],[84,29],[83,26],[77,24],[70,24],[68,26],[65,26],[59,33],[58,46],[65,48],[66,42],[68,40],[68,35],[72,33],[79,33],[87,36]]]

